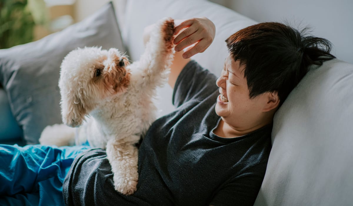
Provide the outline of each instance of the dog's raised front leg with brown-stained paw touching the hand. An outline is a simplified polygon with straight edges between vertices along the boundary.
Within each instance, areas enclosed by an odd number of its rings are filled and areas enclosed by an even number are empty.
[[[131,66],[139,70],[142,76],[139,88],[154,88],[167,79],[166,71],[173,60],[174,20],[165,18],[154,25],[149,41],[139,61]]]

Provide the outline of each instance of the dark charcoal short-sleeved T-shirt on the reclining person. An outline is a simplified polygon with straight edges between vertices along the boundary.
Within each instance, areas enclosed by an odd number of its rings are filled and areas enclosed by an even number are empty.
[[[176,110],[157,119],[139,148],[137,191],[114,190],[106,153],[75,159],[63,192],[67,205],[252,205],[267,165],[271,125],[223,138],[213,129],[219,95],[216,77],[195,61],[180,73]]]

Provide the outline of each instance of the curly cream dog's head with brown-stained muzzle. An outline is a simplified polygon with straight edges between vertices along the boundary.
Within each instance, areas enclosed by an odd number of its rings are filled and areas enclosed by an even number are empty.
[[[108,97],[124,93],[130,82],[129,61],[118,49],[77,48],[60,66],[59,88],[64,124],[75,127]]]

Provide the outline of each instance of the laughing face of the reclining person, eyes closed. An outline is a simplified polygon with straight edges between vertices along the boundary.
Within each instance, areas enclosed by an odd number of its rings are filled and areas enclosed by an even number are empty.
[[[233,136],[247,134],[270,123],[274,112],[268,112],[276,107],[276,95],[273,93],[250,99],[244,68],[245,65],[240,65],[239,61],[228,55],[221,76],[216,81],[220,95],[215,111],[228,130],[234,133]]]

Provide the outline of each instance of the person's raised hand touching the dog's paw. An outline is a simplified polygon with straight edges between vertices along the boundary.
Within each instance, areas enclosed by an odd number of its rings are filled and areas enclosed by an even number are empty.
[[[183,58],[187,59],[197,53],[202,53],[211,45],[215,34],[214,23],[206,17],[184,20],[174,28],[174,35],[177,35],[174,39],[174,44],[177,45],[175,51],[179,52],[196,43],[188,48]]]

